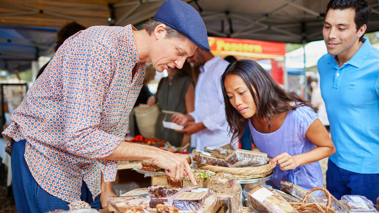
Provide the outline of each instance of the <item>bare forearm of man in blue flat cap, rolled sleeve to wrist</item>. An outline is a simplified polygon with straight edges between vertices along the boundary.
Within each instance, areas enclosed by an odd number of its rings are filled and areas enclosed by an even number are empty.
[[[121,142],[112,154],[104,159],[115,161],[153,161],[162,150],[153,146]]]

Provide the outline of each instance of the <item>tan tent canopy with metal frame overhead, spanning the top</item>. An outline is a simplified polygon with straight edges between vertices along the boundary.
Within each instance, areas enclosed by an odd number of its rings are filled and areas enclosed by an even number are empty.
[[[0,24],[59,28],[69,21],[86,27],[141,23],[151,18],[163,1],[158,0],[4,0]],[[321,40],[327,0],[192,0],[202,15],[208,35],[266,41],[303,43]],[[379,31],[377,0],[367,32]]]

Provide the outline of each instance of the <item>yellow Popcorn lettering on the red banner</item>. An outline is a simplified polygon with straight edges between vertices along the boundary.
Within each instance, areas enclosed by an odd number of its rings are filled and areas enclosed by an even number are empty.
[[[221,51],[240,51],[240,52],[258,52],[261,53],[262,46],[259,44],[248,43],[230,43],[220,39],[209,39],[209,45],[212,46],[216,42],[216,50]]]

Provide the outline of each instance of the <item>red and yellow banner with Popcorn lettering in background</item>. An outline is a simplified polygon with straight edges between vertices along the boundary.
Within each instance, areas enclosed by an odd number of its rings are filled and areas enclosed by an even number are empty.
[[[208,37],[208,41],[214,55],[273,59],[286,54],[286,43],[281,42],[220,37]]]

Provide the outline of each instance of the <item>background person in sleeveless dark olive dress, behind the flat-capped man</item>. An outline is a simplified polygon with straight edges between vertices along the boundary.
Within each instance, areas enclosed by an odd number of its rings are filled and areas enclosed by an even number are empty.
[[[169,69],[168,76],[162,78],[158,84],[156,97],[150,97],[148,100],[148,104],[157,103],[161,110],[156,124],[155,136],[177,147],[189,143],[191,136],[164,128],[162,121],[171,122],[170,119],[173,114],[165,113],[165,111],[187,114],[195,110],[195,86],[191,73],[191,65],[187,62],[180,70],[177,68]]]

